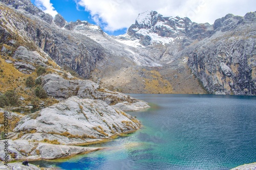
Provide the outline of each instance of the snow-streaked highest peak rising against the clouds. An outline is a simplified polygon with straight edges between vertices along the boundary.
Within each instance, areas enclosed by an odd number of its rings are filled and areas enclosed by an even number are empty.
[[[182,39],[191,23],[188,18],[163,17],[156,11],[146,11],[139,14],[127,35],[140,39],[140,43],[145,46],[169,44],[175,39]]]

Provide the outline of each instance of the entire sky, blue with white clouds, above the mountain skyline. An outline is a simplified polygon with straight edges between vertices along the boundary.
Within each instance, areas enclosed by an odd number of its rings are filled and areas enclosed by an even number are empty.
[[[157,11],[163,16],[188,17],[213,24],[226,14],[244,16],[256,10],[255,0],[31,0],[52,16],[59,13],[68,22],[87,20],[109,35],[120,35],[135,23],[139,13]]]

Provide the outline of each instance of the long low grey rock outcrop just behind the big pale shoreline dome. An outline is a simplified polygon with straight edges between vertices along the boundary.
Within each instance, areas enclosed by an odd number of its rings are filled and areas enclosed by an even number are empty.
[[[83,99],[104,101],[106,104],[121,108],[123,111],[135,111],[150,107],[144,101],[101,88],[90,80],[67,80],[57,74],[48,74],[41,79],[47,94],[54,98],[68,99],[72,95],[77,95]]]

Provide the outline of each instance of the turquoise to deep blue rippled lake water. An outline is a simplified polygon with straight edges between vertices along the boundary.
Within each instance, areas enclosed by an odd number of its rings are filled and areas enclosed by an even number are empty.
[[[129,112],[135,133],[91,145],[106,149],[65,162],[62,169],[231,169],[256,162],[256,97],[130,94],[151,104]]]

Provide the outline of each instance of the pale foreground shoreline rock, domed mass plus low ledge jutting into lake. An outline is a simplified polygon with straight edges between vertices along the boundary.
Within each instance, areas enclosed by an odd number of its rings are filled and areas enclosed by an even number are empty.
[[[15,115],[9,113],[8,118]],[[8,139],[0,141],[0,158],[5,160],[5,145],[8,145],[8,161],[58,159],[97,151],[101,148],[74,145],[110,140],[140,126],[138,119],[103,101],[72,96],[22,115]]]

